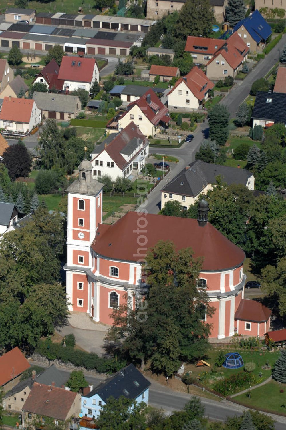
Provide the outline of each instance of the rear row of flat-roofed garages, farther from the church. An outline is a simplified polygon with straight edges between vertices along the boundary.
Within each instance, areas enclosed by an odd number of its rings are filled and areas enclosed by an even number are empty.
[[[57,12],[55,14],[45,12],[36,14],[36,24],[104,28],[117,31],[142,31],[143,33],[148,33],[151,25],[155,23],[156,21],[150,19],[124,18],[108,15],[72,15],[62,12]]]

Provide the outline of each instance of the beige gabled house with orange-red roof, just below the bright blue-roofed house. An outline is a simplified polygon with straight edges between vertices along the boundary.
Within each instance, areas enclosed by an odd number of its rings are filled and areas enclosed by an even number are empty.
[[[249,48],[237,33],[233,33],[221,49],[206,63],[206,76],[221,80],[226,76],[236,77],[247,59]]]

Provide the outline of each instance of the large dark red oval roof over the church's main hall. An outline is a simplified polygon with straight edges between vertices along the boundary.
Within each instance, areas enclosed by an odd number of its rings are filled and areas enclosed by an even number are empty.
[[[142,230],[147,243],[140,246],[137,243],[137,212],[128,212],[115,224],[109,226],[100,224],[92,243],[92,249],[105,257],[114,260],[138,261],[138,249],[152,248],[159,240],[170,240],[175,248],[192,248],[194,257],[203,257],[203,271],[230,269],[243,263],[245,254],[242,249],[224,237],[212,224],[206,223],[200,227],[197,220],[178,218],[164,215],[148,214],[144,216],[147,226]],[[142,240],[143,241],[143,240]],[[141,251],[141,254],[146,252]],[[142,255],[141,258],[144,258]]]

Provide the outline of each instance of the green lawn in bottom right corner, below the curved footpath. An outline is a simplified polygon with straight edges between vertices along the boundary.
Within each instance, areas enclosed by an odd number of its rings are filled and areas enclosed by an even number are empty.
[[[284,390],[280,393],[280,390]],[[250,391],[250,399],[246,394],[240,394],[234,398],[235,401],[241,402],[244,405],[255,406],[259,409],[264,409],[268,411],[286,413],[286,384],[278,384],[276,381],[270,381],[268,384],[262,385],[261,387],[255,388],[255,390]]]

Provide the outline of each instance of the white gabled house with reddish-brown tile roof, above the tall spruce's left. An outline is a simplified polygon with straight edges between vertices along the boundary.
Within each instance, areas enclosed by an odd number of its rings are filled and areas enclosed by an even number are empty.
[[[203,107],[207,100],[209,90],[214,87],[202,69],[197,66],[175,83],[168,93],[169,111],[193,111]]]

